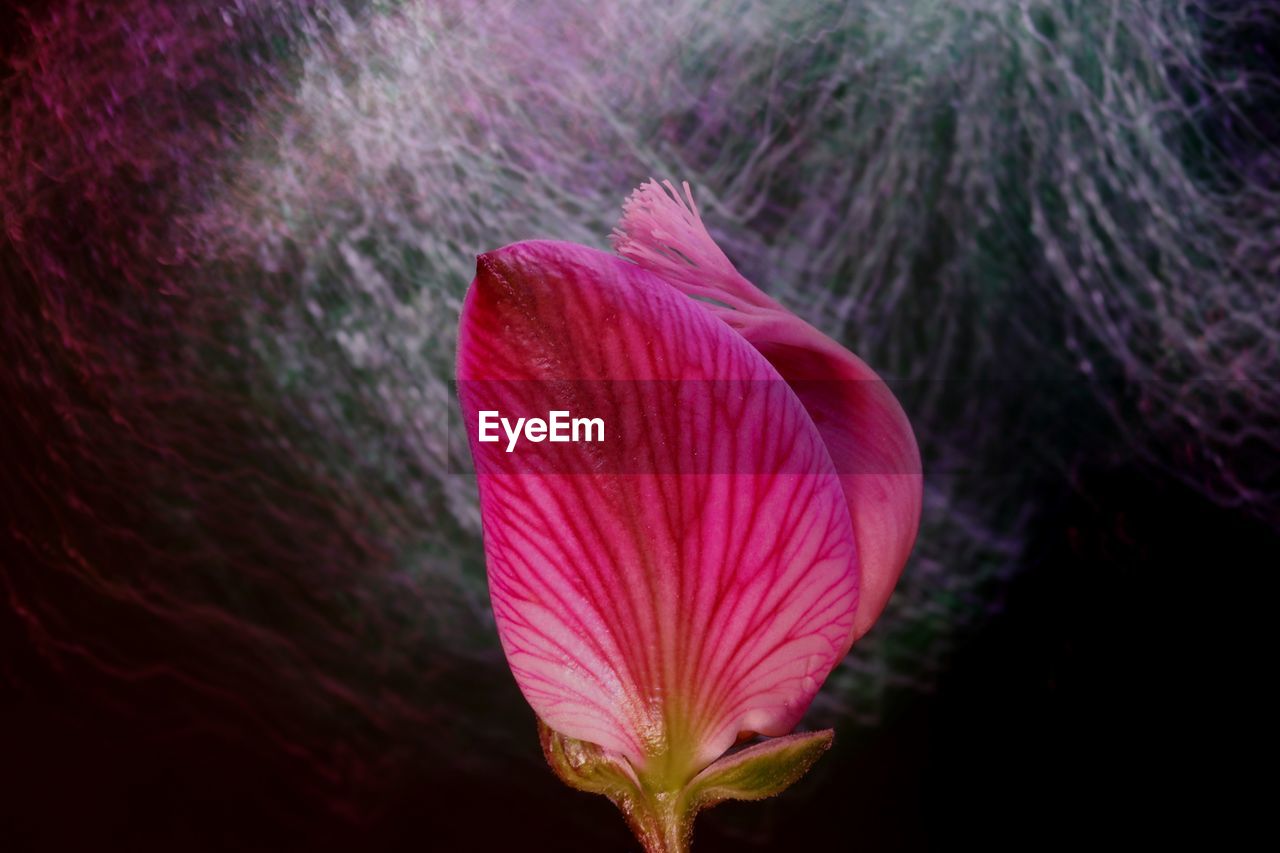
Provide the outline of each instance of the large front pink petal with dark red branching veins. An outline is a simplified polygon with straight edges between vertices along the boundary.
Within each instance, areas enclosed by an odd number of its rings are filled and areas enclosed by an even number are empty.
[[[676,788],[741,731],[790,731],[847,648],[858,557],[769,362],[648,270],[525,242],[479,259],[458,379],[498,631],[538,716]],[[477,441],[480,411],[547,406],[611,441]]]

